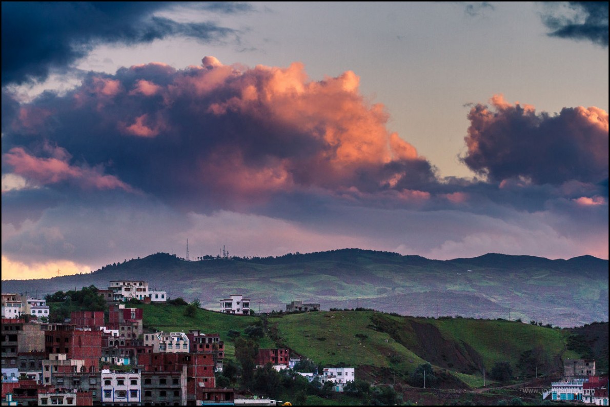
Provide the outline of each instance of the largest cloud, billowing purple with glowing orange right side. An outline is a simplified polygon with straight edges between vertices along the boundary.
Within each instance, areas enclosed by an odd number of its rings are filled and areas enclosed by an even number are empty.
[[[151,63],[91,73],[65,96],[48,93],[7,119],[3,164],[38,184],[131,185],[199,209],[298,189],[400,192],[436,182],[358,85],[351,71],[309,81],[301,63],[246,68],[213,57],[181,71]],[[49,144],[62,157],[26,153]],[[74,167],[68,153],[113,175]]]

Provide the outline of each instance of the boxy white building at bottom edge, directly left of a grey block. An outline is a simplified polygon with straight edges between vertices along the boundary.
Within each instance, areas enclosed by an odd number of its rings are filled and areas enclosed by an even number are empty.
[[[142,401],[140,372],[110,372],[102,370],[102,403],[138,405]]]

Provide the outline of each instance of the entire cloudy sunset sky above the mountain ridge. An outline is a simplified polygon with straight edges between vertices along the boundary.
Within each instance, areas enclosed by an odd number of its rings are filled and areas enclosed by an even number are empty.
[[[2,279],[608,259],[608,60],[608,2],[2,2]]]

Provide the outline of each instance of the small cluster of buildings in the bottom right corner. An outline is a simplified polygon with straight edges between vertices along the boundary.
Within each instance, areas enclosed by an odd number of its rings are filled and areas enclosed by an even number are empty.
[[[608,405],[608,376],[595,375],[592,359],[565,359],[561,381],[551,383],[542,399]]]

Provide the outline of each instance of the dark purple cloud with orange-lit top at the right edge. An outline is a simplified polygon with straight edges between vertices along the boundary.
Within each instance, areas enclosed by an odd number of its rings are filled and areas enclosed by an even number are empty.
[[[608,178],[608,113],[597,107],[564,107],[556,115],[533,106],[476,104],[468,114],[468,152],[462,160],[492,181],[523,178],[536,184]]]

